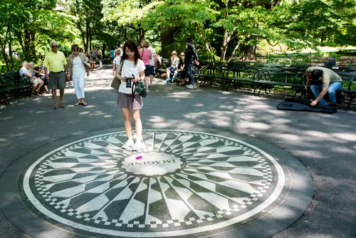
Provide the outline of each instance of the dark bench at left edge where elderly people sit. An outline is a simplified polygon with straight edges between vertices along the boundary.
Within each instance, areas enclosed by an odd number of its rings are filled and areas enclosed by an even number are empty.
[[[21,90],[31,88],[31,82],[28,78],[20,76],[19,71],[11,71],[0,75],[0,98],[3,98],[6,104],[9,104],[8,95],[14,93],[19,95]]]

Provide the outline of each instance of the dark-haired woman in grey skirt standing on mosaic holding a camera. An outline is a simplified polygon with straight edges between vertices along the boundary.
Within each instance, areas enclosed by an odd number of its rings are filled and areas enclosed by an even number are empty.
[[[122,145],[122,149],[129,149],[133,151],[140,150],[142,145],[142,122],[140,118],[140,109],[142,108],[142,98],[139,94],[132,95],[133,83],[145,79],[145,63],[141,60],[140,53],[134,41],[126,41],[123,47],[122,57],[117,64],[115,77],[121,80],[119,94],[117,95],[117,106],[122,110],[125,121],[125,130],[128,140]],[[132,75],[135,78],[132,79]],[[131,88],[127,88],[127,81],[131,81]],[[132,139],[132,124],[131,124],[131,110],[132,116],[135,120],[136,129],[136,143]]]

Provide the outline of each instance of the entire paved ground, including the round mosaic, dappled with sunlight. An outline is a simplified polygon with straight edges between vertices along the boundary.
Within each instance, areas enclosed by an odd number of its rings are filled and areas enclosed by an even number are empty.
[[[155,80],[132,152],[110,72],[1,108],[1,237],[353,237],[355,113]]]

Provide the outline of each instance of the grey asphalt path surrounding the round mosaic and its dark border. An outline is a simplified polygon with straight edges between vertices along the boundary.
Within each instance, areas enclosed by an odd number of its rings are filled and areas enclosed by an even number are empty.
[[[53,110],[50,96],[14,98],[11,105],[2,107],[1,176],[9,175],[6,168],[13,162],[44,145],[122,128],[110,78],[108,69],[92,73],[85,86],[87,107],[74,107],[72,87],[66,90],[66,108]],[[308,168],[315,186],[313,202],[303,217],[274,237],[355,237],[355,113],[281,111],[276,110],[278,100],[174,85],[155,85],[144,103],[144,128],[239,133],[278,146]],[[0,237],[25,236],[1,214]]]

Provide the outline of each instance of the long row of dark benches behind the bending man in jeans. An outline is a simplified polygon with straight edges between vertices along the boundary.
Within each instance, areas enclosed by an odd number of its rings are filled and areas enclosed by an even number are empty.
[[[266,64],[255,62],[204,62],[197,76],[200,86],[210,82],[211,85],[219,83],[222,90],[229,86],[238,89],[241,83],[248,83],[253,88],[253,95],[261,90],[271,93],[271,88],[279,86],[295,90],[294,96],[301,93],[305,95],[305,70],[308,64]],[[351,67],[325,67],[330,68],[342,78],[342,87],[338,90],[343,98],[348,98],[347,109],[350,109],[352,100],[356,99],[356,68]]]

